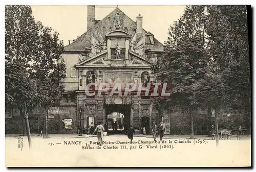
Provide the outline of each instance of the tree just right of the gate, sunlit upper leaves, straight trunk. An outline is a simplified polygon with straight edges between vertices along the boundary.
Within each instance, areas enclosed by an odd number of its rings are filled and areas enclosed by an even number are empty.
[[[205,23],[205,6],[187,6],[184,15],[170,26],[166,53],[153,66],[157,78],[166,82],[172,93],[169,105],[179,105],[190,114],[190,138],[194,138],[192,111],[197,108],[191,86],[204,76],[204,67],[209,61]]]

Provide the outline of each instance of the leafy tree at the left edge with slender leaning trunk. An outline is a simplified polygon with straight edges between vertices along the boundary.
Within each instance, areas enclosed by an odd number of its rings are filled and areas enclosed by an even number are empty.
[[[31,148],[28,112],[58,102],[62,94],[63,42],[35,22],[30,6],[6,6],[5,14],[6,107],[15,106],[25,119]]]

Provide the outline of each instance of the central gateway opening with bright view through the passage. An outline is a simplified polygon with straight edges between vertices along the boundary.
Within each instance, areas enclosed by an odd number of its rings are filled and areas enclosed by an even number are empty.
[[[131,105],[106,105],[105,121],[109,134],[125,134],[131,125]]]

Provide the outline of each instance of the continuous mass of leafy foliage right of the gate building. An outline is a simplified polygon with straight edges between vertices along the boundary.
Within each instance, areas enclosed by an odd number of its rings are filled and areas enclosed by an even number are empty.
[[[170,26],[153,67],[172,94],[161,108],[228,109],[250,124],[251,84],[246,6],[187,6]]]

